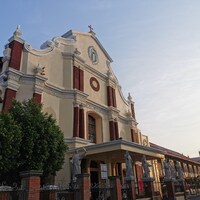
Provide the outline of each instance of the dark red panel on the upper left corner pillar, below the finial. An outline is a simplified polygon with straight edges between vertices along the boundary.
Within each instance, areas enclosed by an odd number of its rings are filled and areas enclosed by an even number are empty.
[[[11,48],[11,58],[9,67],[19,70],[21,64],[23,44],[14,40],[9,44],[9,47]]]

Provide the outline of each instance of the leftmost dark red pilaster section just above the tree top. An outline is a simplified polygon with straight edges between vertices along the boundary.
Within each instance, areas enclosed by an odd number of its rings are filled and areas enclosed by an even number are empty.
[[[12,106],[12,101],[16,97],[16,91],[11,90],[10,88],[6,88],[5,95],[4,95],[4,103],[3,103],[3,112],[7,112],[11,106]]]

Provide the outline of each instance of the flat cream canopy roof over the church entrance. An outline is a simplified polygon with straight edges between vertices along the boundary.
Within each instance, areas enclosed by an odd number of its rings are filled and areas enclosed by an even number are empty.
[[[126,151],[129,152],[134,160],[141,160],[142,155],[146,155],[147,160],[164,158],[163,151],[123,139],[104,142],[101,144],[90,144],[84,146],[84,148],[87,151],[86,157],[94,160],[109,159],[123,162]],[[79,147],[71,148],[68,153],[71,155],[75,150],[78,150],[80,153],[84,152],[83,147]]]

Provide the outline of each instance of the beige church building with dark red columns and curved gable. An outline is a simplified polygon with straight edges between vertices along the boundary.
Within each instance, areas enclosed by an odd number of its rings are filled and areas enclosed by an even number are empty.
[[[142,190],[143,155],[151,164],[151,177],[159,182],[164,176],[165,151],[150,145],[138,129],[133,99],[130,94],[124,97],[112,62],[91,27],[89,32],[70,30],[34,49],[18,26],[5,46],[0,58],[0,111],[6,112],[14,98],[34,98],[56,119],[69,147],[63,168],[51,180],[54,184],[71,181],[75,150],[87,151],[81,170],[90,174],[91,184],[108,176],[124,182],[126,151],[134,161],[137,192]],[[191,173],[199,174],[200,163],[190,164],[195,165]]]

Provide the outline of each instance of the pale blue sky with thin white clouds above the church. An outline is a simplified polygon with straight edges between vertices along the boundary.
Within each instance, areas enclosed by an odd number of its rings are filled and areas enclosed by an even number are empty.
[[[4,1],[0,48],[21,25],[39,48],[70,29],[96,36],[113,58],[124,96],[135,101],[150,141],[189,155],[200,150],[199,0]],[[1,53],[2,54],[2,53]]]

